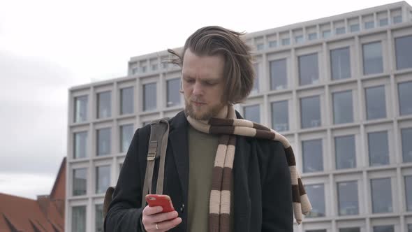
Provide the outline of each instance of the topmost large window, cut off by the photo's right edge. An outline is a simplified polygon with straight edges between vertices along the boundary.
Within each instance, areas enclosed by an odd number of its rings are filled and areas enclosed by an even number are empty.
[[[395,38],[396,68],[412,68],[412,36]]]

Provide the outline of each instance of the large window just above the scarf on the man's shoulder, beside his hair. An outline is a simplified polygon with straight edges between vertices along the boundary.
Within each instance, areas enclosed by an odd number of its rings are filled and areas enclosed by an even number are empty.
[[[272,102],[272,127],[275,131],[289,130],[288,100]]]

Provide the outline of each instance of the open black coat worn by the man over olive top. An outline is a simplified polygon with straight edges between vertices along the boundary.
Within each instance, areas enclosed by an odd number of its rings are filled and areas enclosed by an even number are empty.
[[[241,116],[237,113],[237,117]],[[187,231],[189,189],[188,122],[180,112],[170,119],[163,194],[172,199]],[[138,129],[126,154],[105,218],[105,231],[142,231],[142,186],[145,181],[150,126]],[[153,187],[156,187],[157,164]],[[293,231],[290,173],[278,141],[237,136],[233,164],[234,231]]]

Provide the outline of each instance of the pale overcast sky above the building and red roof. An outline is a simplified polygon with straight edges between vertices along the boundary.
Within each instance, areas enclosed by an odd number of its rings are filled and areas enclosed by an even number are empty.
[[[253,32],[392,2],[0,0],[0,192],[50,193],[68,88],[125,76],[130,57],[182,46],[206,25]]]

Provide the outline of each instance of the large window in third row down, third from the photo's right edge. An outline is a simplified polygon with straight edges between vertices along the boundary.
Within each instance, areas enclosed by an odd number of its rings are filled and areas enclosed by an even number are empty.
[[[355,136],[339,136],[334,138],[336,168],[356,168]]]

